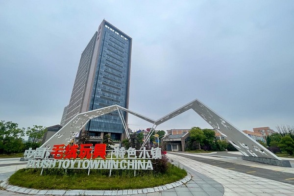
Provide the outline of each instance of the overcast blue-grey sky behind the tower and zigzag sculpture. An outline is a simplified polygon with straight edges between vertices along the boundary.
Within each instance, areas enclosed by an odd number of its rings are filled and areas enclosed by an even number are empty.
[[[294,125],[293,0],[1,0],[0,120],[59,124],[103,19],[133,39],[130,110],[157,120],[198,98],[241,130]],[[157,129],[192,126],[212,128],[188,111]]]

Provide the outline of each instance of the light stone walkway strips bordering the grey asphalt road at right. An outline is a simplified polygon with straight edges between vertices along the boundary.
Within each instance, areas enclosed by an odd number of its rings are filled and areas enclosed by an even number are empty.
[[[221,183],[224,188],[224,196],[294,196],[294,185],[262,178],[246,173],[235,172],[223,169],[217,166],[191,161],[189,158],[169,154],[169,157],[180,162],[190,169],[202,173],[211,179]],[[186,154],[186,153],[178,153]],[[190,154],[191,155],[191,154]],[[210,157],[192,154],[193,156],[205,157],[219,161],[231,161],[234,159],[224,159],[220,157]],[[287,172],[293,172],[293,168],[282,168],[278,166],[270,166],[261,163],[249,162],[245,160],[235,160],[238,164],[251,165],[251,167],[264,167],[267,169],[279,169]],[[234,161],[234,162],[235,162]],[[240,162],[239,162],[240,161]]]

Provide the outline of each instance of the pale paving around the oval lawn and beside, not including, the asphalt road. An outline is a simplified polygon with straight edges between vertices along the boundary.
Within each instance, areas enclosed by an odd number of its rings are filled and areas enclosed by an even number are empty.
[[[246,173],[236,172],[212,166],[196,160],[181,157],[186,153],[168,153],[173,163],[187,170],[192,175],[192,179],[186,183],[171,183],[166,186],[140,190],[120,190],[120,191],[85,191],[85,190],[31,190],[26,188],[18,189],[15,193],[7,190],[0,190],[1,196],[27,196],[32,195],[127,195],[127,196],[294,196],[294,185],[253,176]],[[192,154],[193,156],[200,156]],[[291,168],[281,168],[278,166],[268,166],[255,162],[244,161],[242,159],[225,159],[221,157],[204,156],[216,161],[240,161],[251,167],[266,167],[267,169],[281,169],[293,172]],[[260,166],[262,165],[262,166]],[[186,178],[188,180],[188,178]],[[165,187],[165,188],[164,188]],[[7,188],[7,187],[6,187]]]

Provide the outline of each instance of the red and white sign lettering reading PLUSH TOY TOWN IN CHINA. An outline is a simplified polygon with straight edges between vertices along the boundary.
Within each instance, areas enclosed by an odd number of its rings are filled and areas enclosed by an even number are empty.
[[[142,150],[116,147],[106,150],[106,144],[54,145],[52,150],[25,150],[26,168],[153,170],[151,159],[161,159],[161,148]]]

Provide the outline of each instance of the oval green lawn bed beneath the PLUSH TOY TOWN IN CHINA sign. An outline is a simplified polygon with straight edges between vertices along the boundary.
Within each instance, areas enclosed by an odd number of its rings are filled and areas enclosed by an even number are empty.
[[[108,176],[109,170],[91,170],[89,176],[88,170],[68,170],[65,173],[61,169],[50,169],[43,175],[40,172],[41,169],[21,169],[9,178],[9,183],[32,189],[122,190],[156,187],[175,182],[187,175],[185,170],[172,164],[169,164],[166,173],[155,174],[153,171],[140,170],[136,171],[135,177],[133,170],[112,171],[111,177]]]

